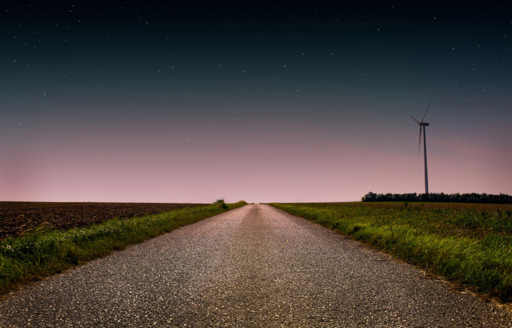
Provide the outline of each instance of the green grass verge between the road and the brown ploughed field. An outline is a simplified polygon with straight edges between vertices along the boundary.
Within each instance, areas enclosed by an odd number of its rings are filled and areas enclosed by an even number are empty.
[[[40,226],[24,236],[6,238],[0,241],[0,292],[245,204],[245,201],[240,201],[225,206],[183,208],[123,220],[114,218],[68,231],[48,230]]]

